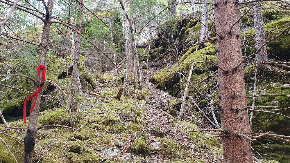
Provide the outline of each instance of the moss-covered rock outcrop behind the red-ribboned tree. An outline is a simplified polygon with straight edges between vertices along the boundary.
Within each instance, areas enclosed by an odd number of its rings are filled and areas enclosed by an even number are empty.
[[[3,55],[3,54],[1,54]],[[72,58],[72,56],[69,56]],[[52,55],[47,55],[46,57],[46,80],[51,80],[58,84],[62,89],[67,90],[67,82],[63,81],[63,78],[66,78],[66,59],[64,58],[56,58]],[[80,55],[80,63],[84,64],[85,58]],[[22,59],[8,59],[5,61],[6,64],[10,65],[10,67],[1,64],[3,70],[1,72],[2,75],[10,75],[10,74],[22,74],[36,78],[36,67],[37,67],[37,57],[32,57],[29,61],[22,61]],[[72,61],[69,60],[69,73],[72,72]],[[17,72],[15,72],[14,70]],[[85,93],[92,91],[96,84],[94,79],[89,72],[89,70],[79,65],[79,76],[80,82]],[[33,92],[33,82],[30,79],[23,77],[3,77],[0,80],[1,84],[8,85],[14,88],[27,90]],[[13,88],[8,88],[5,86],[0,86],[1,91],[3,92],[3,96],[1,96],[0,107],[4,115],[13,115],[19,116],[23,114],[23,103],[24,100],[29,97],[31,94],[22,90],[17,90]],[[56,88],[54,86],[47,86],[47,89],[53,92]],[[67,90],[69,91],[69,90]],[[49,94],[48,91],[44,91],[44,94]],[[63,99],[64,95],[61,95],[58,91],[54,91],[53,95],[60,95]],[[28,107],[31,105],[31,102],[28,102]],[[44,105],[49,106],[47,104]],[[55,106],[55,104],[54,104]],[[29,109],[27,109],[27,114],[29,114]]]

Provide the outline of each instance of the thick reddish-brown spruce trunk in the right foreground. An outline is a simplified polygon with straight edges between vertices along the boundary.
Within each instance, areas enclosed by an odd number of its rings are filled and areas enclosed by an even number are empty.
[[[224,163],[253,163],[251,142],[238,134],[249,134],[248,110],[242,61],[237,1],[214,0],[216,48],[221,106],[221,128]],[[230,31],[231,27],[232,30]]]

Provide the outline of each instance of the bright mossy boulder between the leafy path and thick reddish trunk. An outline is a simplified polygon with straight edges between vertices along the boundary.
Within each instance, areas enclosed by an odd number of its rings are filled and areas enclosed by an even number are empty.
[[[217,64],[216,60],[216,45],[207,43],[206,47],[195,52],[196,47],[189,48],[187,52],[180,58],[180,66],[182,73],[186,76],[189,74],[189,70],[192,64],[192,61],[210,61],[214,64]],[[175,64],[172,67],[173,70],[178,70],[178,65]],[[202,80],[203,77],[210,75],[210,70],[217,70],[217,67],[207,64],[207,63],[194,63],[194,70],[192,72],[191,79],[195,79],[193,84],[196,84],[198,81]],[[157,74],[152,75],[149,79],[150,82],[156,84],[157,88],[162,90],[167,90],[170,95],[177,96],[179,93],[179,77],[178,73],[175,71],[169,72],[167,68],[159,71]],[[182,81],[182,85],[185,85],[186,81]],[[205,91],[207,87],[202,86]],[[194,92],[194,89],[191,90]]]

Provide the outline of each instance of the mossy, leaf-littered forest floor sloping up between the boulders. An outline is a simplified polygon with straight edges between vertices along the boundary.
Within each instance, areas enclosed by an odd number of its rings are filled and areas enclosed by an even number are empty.
[[[149,77],[162,69],[160,65],[156,65],[157,62],[152,62],[149,66]],[[116,87],[113,80],[102,84],[99,79],[96,80],[97,87],[79,103],[78,123],[71,121],[64,108],[66,104],[61,108],[41,112],[39,126],[68,125],[78,130],[40,129],[36,140],[35,162],[221,162],[219,138],[209,139],[211,135],[207,132],[190,132],[199,128],[196,123],[202,123],[199,113],[196,113],[191,104],[186,106],[186,121],[178,122],[176,116],[179,114],[179,99],[148,83],[146,74],[142,73],[142,80],[144,90],[137,91],[138,95],[143,95],[137,101],[137,117],[132,116],[135,106],[132,97],[122,95],[120,100],[114,99],[123,86]],[[172,121],[168,122],[169,120]],[[26,127],[27,124],[18,120],[9,123],[9,126]],[[20,139],[25,137],[23,130],[10,131],[10,134]],[[21,162],[23,143],[11,137],[1,137],[10,146],[18,162]],[[0,155],[0,162],[15,160],[6,151]]]

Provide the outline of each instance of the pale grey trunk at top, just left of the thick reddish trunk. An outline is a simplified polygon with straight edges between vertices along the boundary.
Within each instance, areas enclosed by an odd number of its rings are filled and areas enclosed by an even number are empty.
[[[200,41],[207,41],[210,37],[209,31],[208,31],[208,8],[207,8],[207,0],[201,1],[201,39]],[[203,43],[204,45],[204,43]]]

